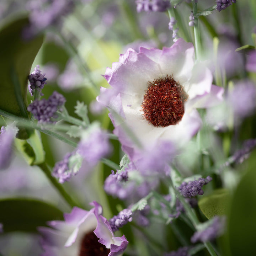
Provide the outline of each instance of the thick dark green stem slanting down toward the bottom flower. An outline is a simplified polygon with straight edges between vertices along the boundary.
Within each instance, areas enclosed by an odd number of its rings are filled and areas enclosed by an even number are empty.
[[[64,198],[64,200],[69,204],[71,208],[73,208],[74,206],[81,207],[70,197],[70,195],[64,190],[64,188],[62,187],[62,185],[60,185],[56,178],[52,176],[52,173],[45,162],[43,162],[42,164],[38,164],[37,166],[44,172],[48,180],[52,183],[56,190],[59,191],[60,195]]]

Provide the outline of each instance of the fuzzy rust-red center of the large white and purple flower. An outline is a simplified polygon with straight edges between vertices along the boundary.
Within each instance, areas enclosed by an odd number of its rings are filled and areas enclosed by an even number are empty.
[[[144,117],[156,127],[177,124],[184,115],[187,98],[183,86],[172,76],[148,82],[142,103]]]

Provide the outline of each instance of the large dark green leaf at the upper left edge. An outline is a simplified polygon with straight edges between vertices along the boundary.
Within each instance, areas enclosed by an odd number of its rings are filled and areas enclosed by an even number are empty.
[[[0,108],[26,118],[28,75],[43,43],[43,36],[30,41],[22,39],[22,30],[28,23],[27,17],[20,17],[0,28]],[[28,137],[24,129],[19,134]]]

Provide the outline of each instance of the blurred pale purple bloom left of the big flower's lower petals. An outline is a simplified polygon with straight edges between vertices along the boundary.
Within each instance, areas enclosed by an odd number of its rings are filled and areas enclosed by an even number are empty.
[[[110,154],[112,147],[107,133],[98,124],[92,124],[82,133],[77,149],[90,166],[95,166],[101,158]]]

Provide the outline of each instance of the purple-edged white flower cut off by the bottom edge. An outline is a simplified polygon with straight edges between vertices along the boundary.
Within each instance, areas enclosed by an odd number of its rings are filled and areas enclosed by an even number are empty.
[[[126,237],[114,237],[102,207],[91,203],[90,211],[74,207],[64,214],[64,221],[51,221],[51,228],[39,227],[42,234],[42,256],[48,255],[122,255],[128,245]]]

